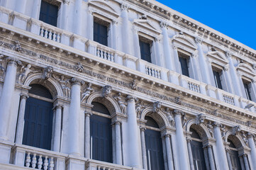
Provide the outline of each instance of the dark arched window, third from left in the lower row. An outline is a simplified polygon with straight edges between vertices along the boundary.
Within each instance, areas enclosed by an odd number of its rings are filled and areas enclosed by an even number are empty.
[[[148,169],[165,169],[159,125],[153,118],[149,116],[145,116],[145,120],[147,120],[147,129],[145,130],[145,142],[148,158]]]

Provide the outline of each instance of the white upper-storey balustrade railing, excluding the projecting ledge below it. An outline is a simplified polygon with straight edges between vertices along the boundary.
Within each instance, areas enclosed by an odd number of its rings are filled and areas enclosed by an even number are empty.
[[[34,38],[38,41],[40,41],[40,38],[45,38],[54,42],[60,42],[64,45],[74,47],[77,50],[88,52],[91,55],[100,58],[99,60],[102,59],[109,62],[116,62],[117,64],[121,64],[130,69],[141,72],[145,74],[141,76],[146,77],[146,75],[148,75],[148,79],[153,78],[152,81],[157,81],[157,79],[169,81],[172,83],[169,84],[169,86],[173,86],[173,84],[176,84],[178,86],[182,86],[185,89],[191,90],[191,93],[196,92],[199,94],[204,94],[212,98],[217,98],[218,100],[224,101],[233,106],[238,106],[240,108],[244,108],[247,103],[251,103],[251,101],[248,101],[245,98],[238,101],[238,98],[240,98],[240,96],[235,96],[233,94],[229,94],[228,92],[223,92],[221,91],[221,89],[216,89],[211,85],[204,84],[189,77],[184,77],[181,74],[177,74],[177,72],[173,72],[163,67],[159,67],[155,64],[146,62],[145,60],[141,60],[131,55],[127,55],[118,50],[114,50],[111,47],[106,47],[99,44],[98,42],[83,38],[80,35],[74,35],[74,33],[71,33],[67,30],[62,30],[60,28],[50,26],[47,23],[43,23],[42,21],[38,21],[33,18],[29,18],[28,16],[25,16],[21,13],[13,12],[7,8],[4,8],[3,6],[0,6],[0,21],[1,23],[6,23],[16,28],[21,28],[23,30],[29,31],[30,33],[38,35],[38,37],[35,35],[30,35],[31,38]],[[6,29],[8,28],[9,27],[6,27]],[[106,63],[105,61],[101,62]],[[256,112],[255,109],[250,109],[250,111]]]

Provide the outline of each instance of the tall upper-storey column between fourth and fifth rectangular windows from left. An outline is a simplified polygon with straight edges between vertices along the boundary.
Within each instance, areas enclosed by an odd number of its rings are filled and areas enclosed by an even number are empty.
[[[201,70],[201,80],[206,84],[211,84],[210,74],[208,72],[208,63],[206,62],[206,58],[204,57],[204,52],[202,50],[202,39],[199,37],[195,38],[195,42],[197,45],[197,50],[199,51],[199,66]]]

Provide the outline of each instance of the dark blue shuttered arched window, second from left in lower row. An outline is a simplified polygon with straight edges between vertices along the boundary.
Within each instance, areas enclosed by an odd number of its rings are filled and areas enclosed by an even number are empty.
[[[91,158],[102,162],[113,162],[111,116],[102,103],[91,102],[93,115],[90,117]]]

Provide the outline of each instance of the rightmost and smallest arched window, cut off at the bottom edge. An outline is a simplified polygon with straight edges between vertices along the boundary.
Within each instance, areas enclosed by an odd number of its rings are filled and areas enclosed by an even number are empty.
[[[238,149],[235,147],[235,144],[232,142],[232,140],[228,139],[228,142],[230,143],[228,153],[230,155],[230,160],[232,164],[231,169],[240,170],[242,168],[238,157]]]

